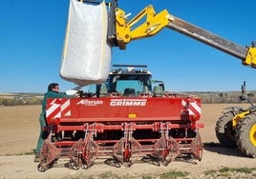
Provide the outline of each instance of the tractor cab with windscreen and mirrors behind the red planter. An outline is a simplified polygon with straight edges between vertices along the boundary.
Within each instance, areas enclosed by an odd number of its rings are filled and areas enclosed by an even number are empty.
[[[89,88],[89,92],[96,91],[97,97],[107,94],[135,97],[160,95],[164,84],[159,80],[152,80],[152,74],[146,65],[114,65],[107,80],[100,85]]]

